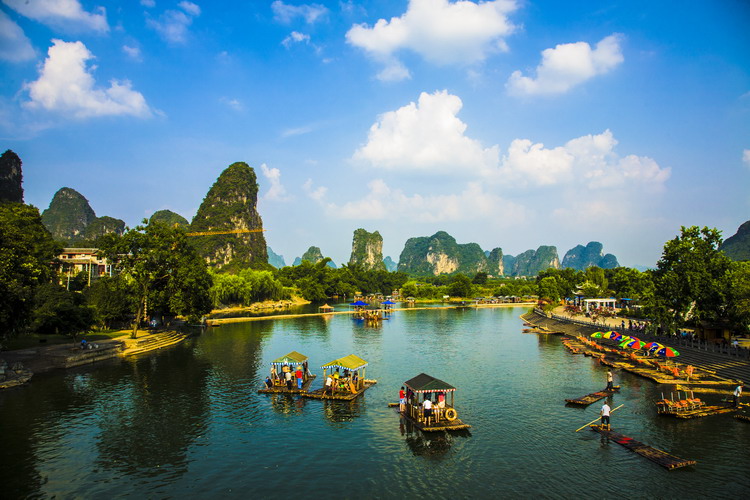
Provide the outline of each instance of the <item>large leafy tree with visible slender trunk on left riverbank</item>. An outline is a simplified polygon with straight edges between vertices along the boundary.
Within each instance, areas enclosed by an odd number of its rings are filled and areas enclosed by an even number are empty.
[[[147,306],[189,320],[211,310],[211,275],[187,238],[180,227],[153,222],[100,240],[100,253],[135,290],[133,338]]]

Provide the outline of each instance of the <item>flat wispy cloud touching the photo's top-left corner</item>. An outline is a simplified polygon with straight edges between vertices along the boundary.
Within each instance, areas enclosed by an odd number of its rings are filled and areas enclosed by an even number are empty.
[[[11,9],[40,23],[64,29],[109,31],[104,7],[97,13],[83,10],[78,0],[2,0]]]

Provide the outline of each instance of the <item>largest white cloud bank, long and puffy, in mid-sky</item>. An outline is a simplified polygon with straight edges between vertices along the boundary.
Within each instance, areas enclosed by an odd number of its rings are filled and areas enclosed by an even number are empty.
[[[530,139],[515,139],[506,154],[500,146],[485,147],[466,135],[467,125],[457,114],[458,96],[447,91],[422,93],[417,103],[378,117],[367,143],[353,160],[389,171],[459,174],[515,186],[577,185],[590,189],[640,184],[660,189],[670,176],[653,159],[615,152],[610,130],[547,148]]]

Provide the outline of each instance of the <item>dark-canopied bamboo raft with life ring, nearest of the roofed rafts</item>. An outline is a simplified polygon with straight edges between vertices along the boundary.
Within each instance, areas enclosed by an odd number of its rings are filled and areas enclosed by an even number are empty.
[[[471,427],[458,418],[455,406],[456,388],[452,385],[426,373],[420,373],[404,382],[404,386],[407,388],[406,404],[401,415],[419,430],[455,431]],[[450,403],[446,401],[447,395],[450,395]],[[425,404],[426,401],[429,403]]]

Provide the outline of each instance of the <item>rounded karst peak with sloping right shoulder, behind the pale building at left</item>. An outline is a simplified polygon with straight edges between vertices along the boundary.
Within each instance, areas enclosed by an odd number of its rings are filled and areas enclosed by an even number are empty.
[[[125,222],[113,217],[97,217],[89,201],[75,189],[64,187],[42,213],[42,222],[52,237],[69,245],[91,244],[107,233],[122,234]]]

